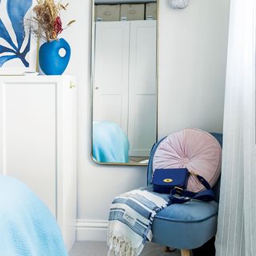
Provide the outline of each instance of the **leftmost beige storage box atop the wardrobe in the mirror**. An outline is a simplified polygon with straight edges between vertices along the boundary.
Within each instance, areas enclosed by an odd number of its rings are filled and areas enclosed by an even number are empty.
[[[120,20],[120,5],[95,6],[95,22],[117,22]]]

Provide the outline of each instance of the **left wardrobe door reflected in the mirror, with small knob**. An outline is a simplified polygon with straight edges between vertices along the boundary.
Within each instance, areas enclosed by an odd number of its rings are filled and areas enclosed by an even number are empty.
[[[130,22],[97,22],[94,122],[112,121],[127,134]]]

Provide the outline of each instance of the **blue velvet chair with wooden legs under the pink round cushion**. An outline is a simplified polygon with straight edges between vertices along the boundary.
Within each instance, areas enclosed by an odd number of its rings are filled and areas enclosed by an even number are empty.
[[[222,134],[212,134],[222,146]],[[149,162],[146,190],[151,190],[152,162]],[[213,238],[217,230],[218,194],[220,180],[214,187],[216,202],[186,202],[161,210],[152,226],[153,241],[182,251],[182,256],[192,255],[192,249]],[[152,189],[153,190],[153,189]]]

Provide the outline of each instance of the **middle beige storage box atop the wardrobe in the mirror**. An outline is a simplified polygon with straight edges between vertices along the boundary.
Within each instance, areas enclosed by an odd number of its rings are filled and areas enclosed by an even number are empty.
[[[137,21],[145,19],[145,4],[122,4],[121,20]]]

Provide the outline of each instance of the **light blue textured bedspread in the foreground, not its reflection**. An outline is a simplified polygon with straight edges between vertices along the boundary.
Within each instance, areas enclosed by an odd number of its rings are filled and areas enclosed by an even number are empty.
[[[0,256],[66,256],[50,210],[22,182],[0,176]]]

